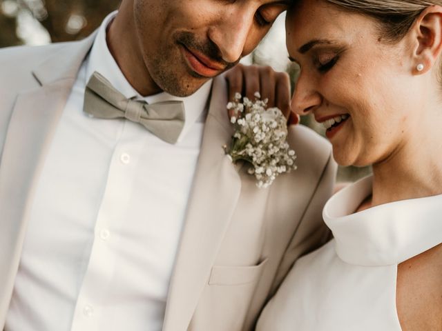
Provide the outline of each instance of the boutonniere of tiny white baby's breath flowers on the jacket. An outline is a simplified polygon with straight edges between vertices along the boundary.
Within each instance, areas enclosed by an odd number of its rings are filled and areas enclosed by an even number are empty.
[[[235,114],[231,117],[235,133],[224,150],[234,163],[250,163],[248,172],[255,175],[258,188],[267,188],[279,174],[296,170],[296,153],[287,143],[284,114],[278,108],[267,108],[267,99],[261,100],[258,92],[255,97],[251,101],[236,93],[234,101],[227,104]]]

